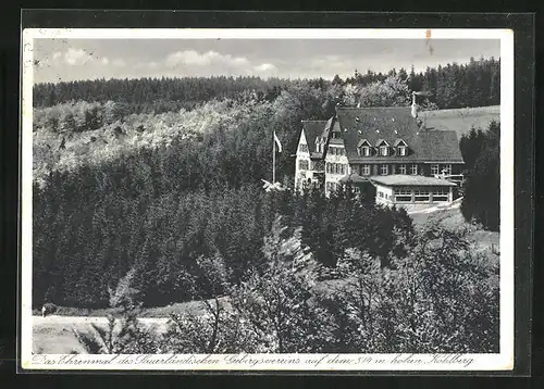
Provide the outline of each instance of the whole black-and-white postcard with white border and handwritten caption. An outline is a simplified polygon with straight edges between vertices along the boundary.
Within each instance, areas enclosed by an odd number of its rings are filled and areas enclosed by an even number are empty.
[[[511,369],[512,42],[23,30],[23,368]]]

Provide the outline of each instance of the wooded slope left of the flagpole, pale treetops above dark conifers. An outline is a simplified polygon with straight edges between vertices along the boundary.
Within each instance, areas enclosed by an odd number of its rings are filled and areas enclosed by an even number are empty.
[[[325,117],[326,99],[300,83],[274,103],[211,101],[126,116],[108,103],[51,109],[85,118],[99,108],[97,129],[88,125],[96,120],[54,129],[36,115],[35,304],[108,305],[108,287],[131,266],[150,283],[138,285],[146,303],[190,299],[184,283],[197,276],[201,255],[220,255],[239,279],[262,256],[265,221],[274,216],[260,187],[272,171],[272,133],[295,149],[300,120]],[[283,176],[293,164],[288,151],[280,154]]]

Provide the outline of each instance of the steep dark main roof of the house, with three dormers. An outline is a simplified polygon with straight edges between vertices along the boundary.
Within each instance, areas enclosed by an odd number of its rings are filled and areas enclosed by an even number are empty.
[[[356,117],[359,120],[356,121]],[[337,118],[350,163],[463,162],[456,133],[420,128],[410,108],[338,108]],[[406,156],[361,156],[357,152],[361,139],[367,139],[371,145],[378,145],[381,140],[394,145],[403,139],[409,152]]]

